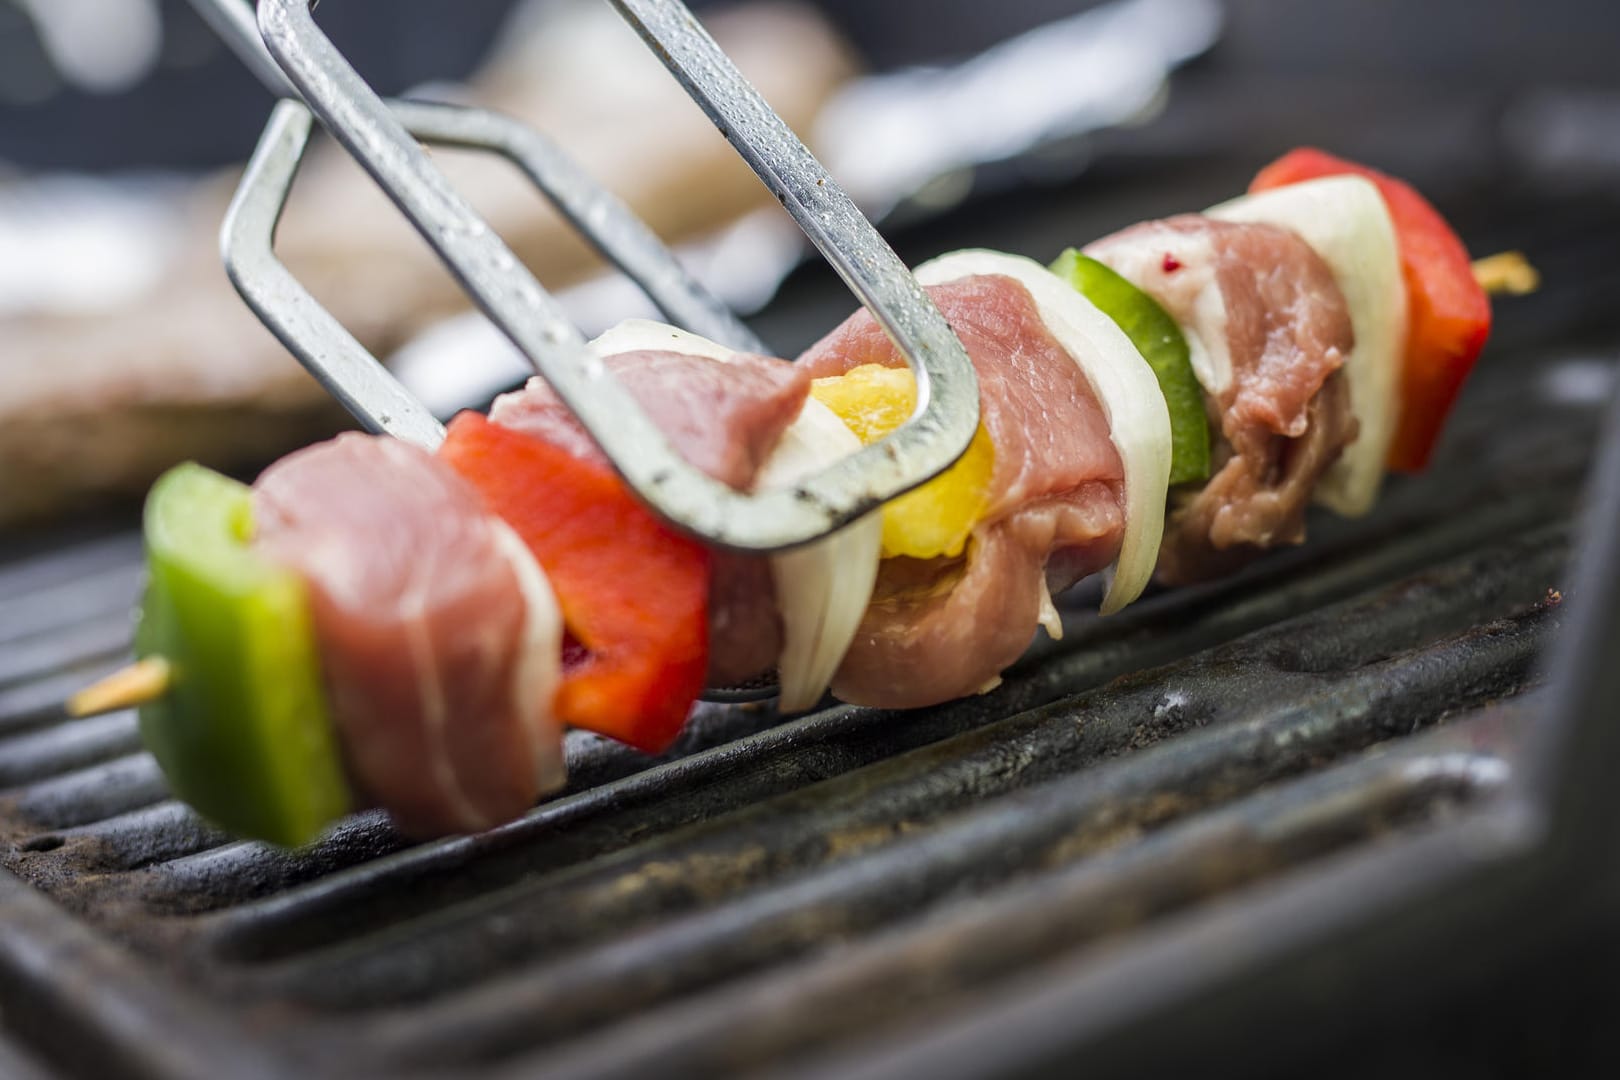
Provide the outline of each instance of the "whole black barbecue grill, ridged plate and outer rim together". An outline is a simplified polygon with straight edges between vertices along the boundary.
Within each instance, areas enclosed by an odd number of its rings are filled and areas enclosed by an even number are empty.
[[[1187,151],[1241,108],[1205,89],[1110,136],[1084,186],[985,198],[896,246],[1042,254],[1213,201],[1290,136]],[[1435,465],[1369,518],[1312,518],[1306,547],[1106,620],[1071,596],[1064,640],[980,698],[706,704],[659,761],[570,735],[570,789],[476,837],[407,845],[361,814],[287,855],[209,829],[133,714],[60,712],[123,661],[130,518],[6,538],[0,1074],[1609,1061],[1620,204],[1518,175],[1429,185],[1545,288],[1503,304]],[[847,304],[810,267],[755,329],[792,345]]]

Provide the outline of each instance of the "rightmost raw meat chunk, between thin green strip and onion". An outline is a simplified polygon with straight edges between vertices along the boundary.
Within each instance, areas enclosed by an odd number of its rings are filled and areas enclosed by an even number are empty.
[[[1157,578],[1202,581],[1301,542],[1317,481],[1356,439],[1335,377],[1354,332],[1332,270],[1288,230],[1197,214],[1134,225],[1085,253],[1181,324],[1218,432],[1210,481],[1171,495]]]

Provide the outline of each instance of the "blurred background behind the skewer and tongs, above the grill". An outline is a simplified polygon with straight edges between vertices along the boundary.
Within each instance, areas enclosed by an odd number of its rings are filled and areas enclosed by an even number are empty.
[[[1612,215],[1620,8],[1599,0],[760,0],[716,36],[909,259],[1038,259],[1243,189],[1296,144],[1414,180],[1476,253]],[[326,0],[386,94],[551,133],[794,355],[849,308],[791,223],[598,0]],[[215,232],[271,105],[183,0],[0,0],[0,525],[130,507],[173,460],[251,473],[343,423],[224,283]],[[501,165],[457,181],[586,332],[650,314]],[[1596,215],[1596,219],[1594,219]],[[450,413],[523,361],[319,147],[280,251]],[[1554,249],[1560,259],[1584,257]],[[1607,261],[1523,330],[1607,317]],[[1557,325],[1544,319],[1555,319]]]

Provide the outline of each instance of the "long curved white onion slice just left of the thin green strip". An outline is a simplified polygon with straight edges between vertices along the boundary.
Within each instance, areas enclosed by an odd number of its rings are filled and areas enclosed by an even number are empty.
[[[956,251],[917,267],[923,285],[964,277],[1011,277],[1029,290],[1047,330],[1069,353],[1108,418],[1124,466],[1124,539],[1102,612],[1111,615],[1147,588],[1158,562],[1170,491],[1170,410],[1153,369],[1119,325],[1061,277],[1022,256]]]

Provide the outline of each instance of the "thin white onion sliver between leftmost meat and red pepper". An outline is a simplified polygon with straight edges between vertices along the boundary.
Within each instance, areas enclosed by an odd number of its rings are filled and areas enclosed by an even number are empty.
[[[530,746],[535,751],[535,777],[541,792],[554,792],[567,780],[562,761],[562,724],[552,703],[562,682],[562,610],[551,591],[546,572],[535,554],[501,518],[491,518],[496,544],[517,575],[526,602],[523,646],[512,672],[512,699],[523,716]]]

